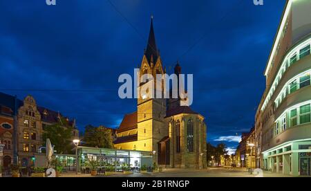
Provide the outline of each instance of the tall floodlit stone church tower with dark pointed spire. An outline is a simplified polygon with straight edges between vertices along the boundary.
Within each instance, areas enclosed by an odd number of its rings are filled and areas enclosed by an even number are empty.
[[[166,99],[156,98],[157,74],[164,74],[165,71],[162,67],[160,51],[156,46],[156,37],[153,30],[153,18],[151,17],[151,26],[147,48],[142,57],[140,66],[140,78],[144,78],[144,74],[152,75],[146,82],[141,82],[138,87],[138,93],[142,89],[146,90],[145,93],[153,93],[153,97],[146,96],[143,93],[138,97],[138,145],[137,149],[142,151],[149,151],[155,154],[154,161],[158,161],[158,142],[167,136],[168,130],[164,125],[164,117],[166,116]],[[161,80],[161,90],[165,87],[165,81]],[[147,87],[154,87],[153,90]],[[162,91],[164,92],[164,91]]]

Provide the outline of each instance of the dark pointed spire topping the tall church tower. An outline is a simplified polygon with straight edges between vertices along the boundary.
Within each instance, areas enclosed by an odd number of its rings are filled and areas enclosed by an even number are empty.
[[[149,39],[148,39],[147,49],[144,55],[146,55],[149,64],[151,64],[151,55],[153,57],[154,62],[157,62],[158,57],[159,57],[159,51],[156,46],[156,37],[154,35],[154,30],[153,30],[153,16],[151,16]]]

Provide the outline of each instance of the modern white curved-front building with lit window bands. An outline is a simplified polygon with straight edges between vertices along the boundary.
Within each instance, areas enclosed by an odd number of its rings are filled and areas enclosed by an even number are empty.
[[[256,165],[311,175],[311,1],[288,0],[265,69],[256,113]]]

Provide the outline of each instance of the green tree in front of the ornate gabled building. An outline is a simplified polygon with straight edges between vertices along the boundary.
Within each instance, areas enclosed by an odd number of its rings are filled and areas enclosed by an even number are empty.
[[[46,144],[46,139],[49,138],[57,153],[72,154],[73,130],[73,127],[68,125],[68,122],[62,118],[60,122],[48,125],[44,129],[44,133],[42,135],[44,144]]]

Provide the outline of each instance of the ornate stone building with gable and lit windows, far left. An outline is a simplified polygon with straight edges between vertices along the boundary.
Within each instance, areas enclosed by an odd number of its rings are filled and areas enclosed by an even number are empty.
[[[79,137],[75,120],[69,120],[61,113],[39,107],[32,96],[19,100],[16,96],[0,93],[0,140],[4,143],[3,167],[19,163],[23,167],[32,166],[35,154],[42,146],[42,134],[46,125],[67,120],[73,127],[73,138]],[[66,128],[64,125],[64,128]]]

